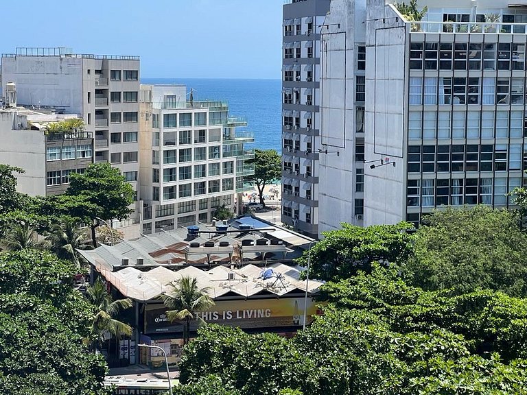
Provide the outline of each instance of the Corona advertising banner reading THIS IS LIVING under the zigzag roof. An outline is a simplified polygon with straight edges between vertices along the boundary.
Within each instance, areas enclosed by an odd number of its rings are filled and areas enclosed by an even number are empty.
[[[209,311],[196,315],[205,322],[238,326],[239,328],[271,328],[303,324],[304,298],[270,298],[259,300],[220,300]],[[169,322],[163,304],[147,304],[145,307],[145,332],[183,332],[184,322]],[[307,299],[307,322],[315,315],[316,305]],[[198,320],[191,322],[191,331],[198,328]]]

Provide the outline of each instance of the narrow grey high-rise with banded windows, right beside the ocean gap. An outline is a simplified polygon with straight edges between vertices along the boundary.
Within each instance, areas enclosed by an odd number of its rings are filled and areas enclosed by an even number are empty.
[[[320,25],[329,3],[283,5],[281,220],[312,236],[318,234]]]

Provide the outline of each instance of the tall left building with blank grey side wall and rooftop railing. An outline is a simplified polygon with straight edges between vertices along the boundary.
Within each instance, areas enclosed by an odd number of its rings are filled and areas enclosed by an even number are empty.
[[[94,139],[93,161],[118,167],[137,191],[139,56],[16,48],[2,54],[1,80],[3,88],[16,84],[18,103],[26,108],[82,117]]]

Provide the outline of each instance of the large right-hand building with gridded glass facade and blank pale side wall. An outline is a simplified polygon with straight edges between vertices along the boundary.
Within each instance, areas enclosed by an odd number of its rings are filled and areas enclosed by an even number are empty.
[[[319,230],[353,223],[361,204],[366,226],[417,224],[442,205],[506,207],[506,193],[524,184],[527,3],[420,1],[424,6],[423,20],[411,22],[384,0],[331,2],[322,37],[321,143],[325,149],[334,139],[339,156],[320,161],[327,211],[320,211]],[[349,136],[355,144],[338,147]],[[336,180],[338,171],[351,174]],[[345,191],[348,202],[334,204]]]

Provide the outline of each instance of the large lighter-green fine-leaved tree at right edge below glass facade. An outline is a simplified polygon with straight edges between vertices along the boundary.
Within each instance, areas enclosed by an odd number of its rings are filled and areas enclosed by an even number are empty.
[[[527,296],[527,234],[516,213],[483,205],[447,208],[426,222],[415,235],[414,258],[403,267],[413,285]]]

